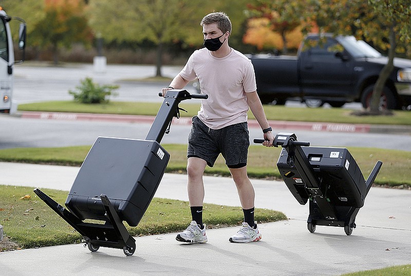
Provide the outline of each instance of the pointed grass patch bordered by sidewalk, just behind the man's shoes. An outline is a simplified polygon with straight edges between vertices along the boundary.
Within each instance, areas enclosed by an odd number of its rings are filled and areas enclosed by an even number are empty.
[[[33,192],[34,188],[0,186],[0,222],[15,248],[33,248],[80,243],[82,236],[69,226]],[[60,204],[64,204],[68,192],[42,189]],[[241,208],[204,204],[204,223],[210,228],[240,225]],[[258,222],[275,222],[287,219],[278,211],[257,209]],[[181,200],[154,198],[137,227],[127,230],[133,236],[182,231],[191,221],[189,203]],[[0,242],[0,251],[2,248]],[[10,249],[10,248],[8,248]]]

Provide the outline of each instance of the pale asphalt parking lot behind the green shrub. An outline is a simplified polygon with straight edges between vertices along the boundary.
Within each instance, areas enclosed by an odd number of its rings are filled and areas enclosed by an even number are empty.
[[[181,70],[178,66],[163,66],[162,75],[174,78]],[[167,86],[158,83],[137,82],[155,76],[154,66],[108,65],[105,72],[95,72],[92,64],[68,64],[64,67],[29,66],[14,67],[14,91],[12,100],[17,103],[72,100],[68,90],[75,90],[81,80],[91,78],[99,84],[117,84],[115,101],[162,102],[158,92]],[[195,88],[188,86],[190,93]]]

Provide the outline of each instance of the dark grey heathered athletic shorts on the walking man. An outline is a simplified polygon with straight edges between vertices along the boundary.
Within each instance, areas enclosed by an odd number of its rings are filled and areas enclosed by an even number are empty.
[[[187,157],[198,157],[213,167],[221,153],[229,168],[242,168],[247,165],[250,136],[247,122],[228,125],[212,130],[197,116],[193,117],[189,135]]]

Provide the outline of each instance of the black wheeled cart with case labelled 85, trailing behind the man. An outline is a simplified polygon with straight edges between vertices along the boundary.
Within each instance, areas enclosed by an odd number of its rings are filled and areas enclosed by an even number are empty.
[[[254,143],[263,142],[254,139]],[[345,148],[309,146],[309,142],[297,141],[293,133],[278,133],[273,145],[283,148],[277,168],[288,189],[301,205],[309,200],[308,230],[313,233],[316,225],[337,226],[351,235],[382,162],[376,163],[365,180]]]

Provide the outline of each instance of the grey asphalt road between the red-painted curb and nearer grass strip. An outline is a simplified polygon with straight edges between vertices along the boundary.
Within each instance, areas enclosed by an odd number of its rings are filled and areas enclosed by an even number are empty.
[[[176,119],[174,119],[176,120]],[[0,115],[0,149],[91,145],[98,136],[144,139],[148,123],[42,120]],[[274,132],[282,132],[275,125]],[[250,127],[250,140],[262,138],[258,127]],[[300,141],[312,146],[363,146],[378,149],[411,151],[411,135],[380,133],[343,133],[285,130],[294,132]],[[186,143],[189,125],[172,124],[162,143]]]

